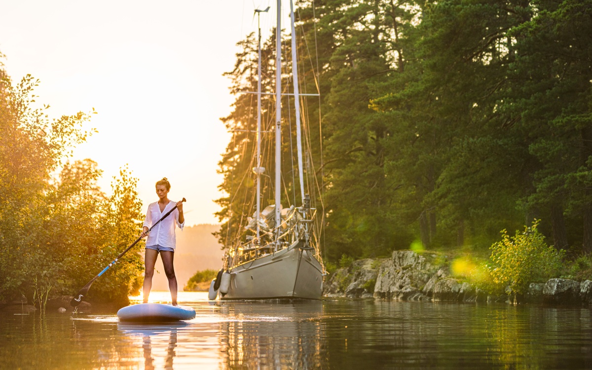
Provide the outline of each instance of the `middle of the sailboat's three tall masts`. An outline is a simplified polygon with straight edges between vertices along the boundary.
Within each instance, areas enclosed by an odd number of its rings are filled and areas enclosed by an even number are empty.
[[[279,237],[281,227],[279,223],[281,220],[280,210],[280,195],[281,195],[281,120],[282,120],[282,104],[281,104],[281,89],[282,89],[282,49],[281,49],[281,7],[282,1],[278,0],[278,25],[275,30],[275,227],[277,230],[276,237]],[[278,249],[276,244],[275,249]]]

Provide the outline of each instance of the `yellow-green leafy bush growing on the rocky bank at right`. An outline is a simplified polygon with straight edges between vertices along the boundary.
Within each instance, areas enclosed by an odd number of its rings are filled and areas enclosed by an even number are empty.
[[[509,286],[514,294],[523,294],[531,282],[545,282],[561,275],[564,252],[545,243],[545,236],[538,231],[539,220],[525,227],[516,236],[502,230],[501,242],[491,246],[491,262],[487,268],[491,276],[488,290],[503,291]],[[489,279],[488,279],[489,280]]]

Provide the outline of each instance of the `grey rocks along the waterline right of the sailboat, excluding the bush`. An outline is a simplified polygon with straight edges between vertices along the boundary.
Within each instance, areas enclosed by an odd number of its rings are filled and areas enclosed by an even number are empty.
[[[400,301],[506,302],[588,305],[592,281],[549,279],[531,283],[524,295],[491,295],[451,276],[442,255],[395,250],[391,258],[356,260],[337,269],[323,286],[324,297]]]

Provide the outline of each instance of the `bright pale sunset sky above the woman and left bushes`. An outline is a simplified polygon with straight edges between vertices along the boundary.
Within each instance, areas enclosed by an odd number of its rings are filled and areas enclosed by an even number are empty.
[[[98,112],[85,126],[98,133],[73,160],[95,160],[107,194],[127,165],[144,212],[166,177],[169,199],[187,199],[188,226],[218,223],[217,163],[230,140],[220,118],[234,101],[222,74],[233,69],[236,43],[257,30],[255,8],[271,6],[261,16],[270,36],[275,3],[0,0],[2,63],[13,82],[27,73],[40,79],[37,103],[51,105],[50,117]],[[284,28],[289,2],[282,7]]]

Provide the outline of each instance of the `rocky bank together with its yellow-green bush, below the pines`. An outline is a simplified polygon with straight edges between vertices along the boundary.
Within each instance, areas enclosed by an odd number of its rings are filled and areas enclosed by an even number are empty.
[[[390,258],[346,256],[324,285],[324,297],[403,301],[592,304],[592,260],[564,260],[548,246],[535,220],[524,231],[491,246],[491,256],[462,250],[395,250]]]

